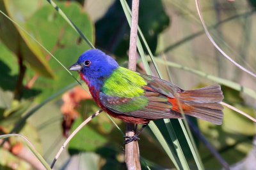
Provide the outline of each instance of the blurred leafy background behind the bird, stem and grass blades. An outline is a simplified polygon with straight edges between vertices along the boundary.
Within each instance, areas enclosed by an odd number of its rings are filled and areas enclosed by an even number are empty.
[[[131,5],[131,1],[127,3]],[[256,29],[253,27],[256,26],[256,1],[200,3],[205,23],[216,43],[255,73],[256,38],[253,35]],[[120,65],[127,66],[129,24],[120,1],[77,0],[56,1],[56,4],[96,48],[112,55]],[[28,31],[65,67],[70,67],[81,53],[90,49],[47,1],[3,0],[0,10]],[[157,61],[162,61],[157,64],[166,80],[170,73],[173,83],[183,89],[211,85],[214,81],[209,76],[222,78],[218,83],[228,80],[237,83],[241,85],[239,90],[235,90],[232,83],[222,85],[224,102],[255,116],[255,78],[231,64],[214,48],[198,20],[194,1],[140,1],[139,25]],[[74,79],[21,27],[0,15],[0,132],[10,133],[20,119],[39,104],[42,107],[26,122],[21,122],[16,132],[28,137],[50,164],[69,132],[99,107],[81,87],[70,88],[65,94],[58,95],[59,90],[68,85],[73,83],[74,87]],[[182,67],[168,66],[168,62],[163,62],[165,60]],[[145,73],[140,63],[138,67],[138,71]],[[198,76],[184,67],[201,71],[205,76]],[[152,70],[154,72],[154,67]],[[78,78],[78,74],[74,75]],[[245,88],[252,93],[244,93]],[[49,99],[54,94],[57,97]],[[224,113],[220,126],[191,119],[220,155],[220,159],[216,159],[212,150],[195,134],[205,169],[221,169],[220,160],[234,169],[253,169],[256,162],[255,124],[227,108]],[[124,122],[114,121],[124,131]],[[163,120],[155,122],[170,143]],[[172,123],[189,167],[196,169],[177,120]],[[149,129],[143,131],[140,138],[142,169],[146,166],[150,169],[173,168],[170,158]],[[12,148],[19,140],[10,138],[10,148],[0,148],[0,169],[31,169],[27,161],[13,153]],[[72,139],[55,169],[125,169],[123,140],[122,133],[105,113],[101,113]]]

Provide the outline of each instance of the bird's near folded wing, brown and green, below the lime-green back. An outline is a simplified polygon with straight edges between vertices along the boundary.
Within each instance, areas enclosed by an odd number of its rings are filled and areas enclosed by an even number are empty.
[[[179,112],[172,110],[167,97],[156,92],[145,92],[144,96],[118,97],[100,92],[100,102],[114,113],[147,119],[182,118]]]

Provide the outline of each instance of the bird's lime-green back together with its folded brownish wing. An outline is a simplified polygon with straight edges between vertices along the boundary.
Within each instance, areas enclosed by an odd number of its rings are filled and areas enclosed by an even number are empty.
[[[180,113],[172,110],[172,104],[168,102],[168,97],[174,97],[175,90],[182,89],[168,81],[132,73],[132,78],[131,74],[125,73],[109,78],[99,94],[100,103],[104,107],[114,113],[152,120],[182,118]]]

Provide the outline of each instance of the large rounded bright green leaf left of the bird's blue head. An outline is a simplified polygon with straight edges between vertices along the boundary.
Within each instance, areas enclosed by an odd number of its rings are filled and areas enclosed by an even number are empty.
[[[84,35],[93,42],[93,25],[88,15],[78,3],[60,3],[58,6],[80,28]],[[38,39],[65,67],[70,67],[77,61],[79,55],[90,49],[70,25],[58,14],[51,5],[44,6],[29,18],[26,23],[31,34]],[[34,87],[42,90],[38,99],[42,101],[57,90],[74,82],[67,71],[54,59],[49,59],[49,65],[56,74],[55,80],[39,77]],[[30,78],[34,75],[28,71]],[[77,73],[74,73],[77,74]]]

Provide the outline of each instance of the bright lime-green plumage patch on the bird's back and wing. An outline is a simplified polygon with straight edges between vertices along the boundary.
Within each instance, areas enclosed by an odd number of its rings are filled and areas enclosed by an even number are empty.
[[[103,87],[100,89],[108,99],[113,96],[129,97],[131,100],[125,103],[109,104],[105,106],[115,112],[129,112],[140,110],[147,106],[148,99],[143,96],[145,90],[141,87],[147,85],[147,82],[140,76],[139,73],[118,67],[113,71],[111,76],[104,81]]]

